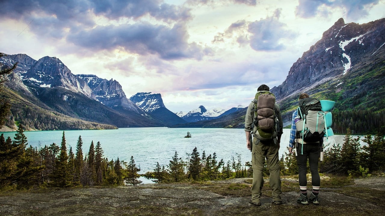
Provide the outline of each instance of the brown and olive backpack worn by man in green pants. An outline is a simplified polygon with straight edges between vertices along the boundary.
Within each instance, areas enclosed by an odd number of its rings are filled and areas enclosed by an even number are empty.
[[[278,135],[278,119],[275,110],[275,95],[270,91],[258,91],[254,102],[254,136],[259,140],[271,140]]]

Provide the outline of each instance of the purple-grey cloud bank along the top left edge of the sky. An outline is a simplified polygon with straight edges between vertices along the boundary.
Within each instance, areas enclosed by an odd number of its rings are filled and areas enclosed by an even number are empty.
[[[93,28],[95,17],[107,22],[122,18],[139,19],[149,15],[159,22],[177,23],[191,19],[189,8],[169,5],[160,0],[2,0],[0,18],[30,23],[40,37],[65,38],[69,31]]]

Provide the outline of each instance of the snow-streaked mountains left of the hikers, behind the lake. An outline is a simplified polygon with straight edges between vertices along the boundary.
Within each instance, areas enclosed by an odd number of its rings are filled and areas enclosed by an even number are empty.
[[[17,54],[0,59],[6,66],[16,62],[18,67],[7,77],[2,92],[12,101],[6,125],[13,129],[18,123],[28,130],[172,126],[187,123],[192,115],[199,121],[221,114],[191,111],[179,117],[164,106],[160,94],[137,93],[127,98],[118,81],[74,75],[56,57],[34,60]]]

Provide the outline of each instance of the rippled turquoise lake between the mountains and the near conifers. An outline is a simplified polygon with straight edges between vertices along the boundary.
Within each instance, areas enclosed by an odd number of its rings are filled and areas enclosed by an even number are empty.
[[[187,132],[191,138],[184,138]],[[4,137],[13,140],[16,132],[1,132]],[[99,141],[104,150],[104,157],[109,160],[124,160],[129,162],[134,156],[136,165],[141,168],[139,173],[153,171],[157,162],[161,166],[169,164],[175,151],[178,156],[186,160],[187,154],[197,147],[200,156],[205,151],[206,156],[215,152],[218,161],[225,163],[232,158],[241,156],[242,164],[251,161],[250,151],[246,148],[246,135],[243,129],[225,128],[119,128],[117,130],[76,130],[64,131],[67,150],[72,146],[76,151],[79,135],[83,140],[83,154],[88,153],[91,141],[94,145]],[[38,149],[56,143],[60,146],[63,131],[25,131],[28,146]],[[287,152],[290,129],[283,129],[279,154]],[[344,135],[329,137],[328,142],[343,143]],[[142,180],[142,179],[141,179]]]

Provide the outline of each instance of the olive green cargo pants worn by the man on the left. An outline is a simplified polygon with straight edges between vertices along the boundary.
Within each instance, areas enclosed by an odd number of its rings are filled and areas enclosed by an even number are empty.
[[[260,203],[261,190],[263,187],[263,167],[266,158],[267,167],[270,172],[269,184],[273,201],[282,201],[281,195],[281,177],[280,177],[280,163],[278,158],[278,145],[276,139],[271,141],[263,141],[254,138],[253,149],[251,151],[251,164],[253,165],[253,185],[251,186],[251,201],[253,203]]]

